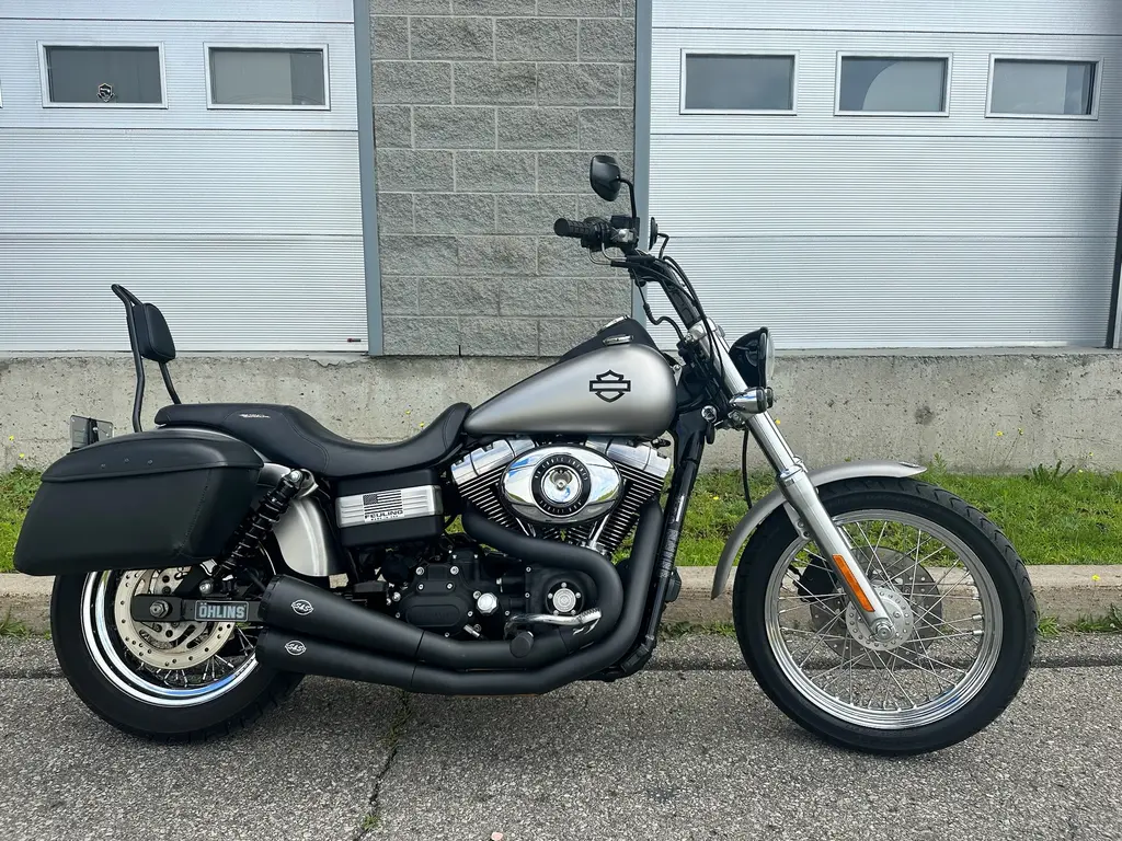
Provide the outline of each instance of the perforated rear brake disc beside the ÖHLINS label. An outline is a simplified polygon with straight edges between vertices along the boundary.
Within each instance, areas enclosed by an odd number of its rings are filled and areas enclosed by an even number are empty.
[[[132,618],[134,595],[174,593],[187,567],[126,572],[113,598],[113,621],[126,649],[153,668],[183,669],[202,665],[213,657],[233,634],[233,622],[181,620],[142,622]]]

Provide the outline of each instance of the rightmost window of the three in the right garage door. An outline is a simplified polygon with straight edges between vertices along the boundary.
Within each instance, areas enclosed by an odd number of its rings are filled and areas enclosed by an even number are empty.
[[[993,57],[988,117],[1095,119],[1097,62]]]

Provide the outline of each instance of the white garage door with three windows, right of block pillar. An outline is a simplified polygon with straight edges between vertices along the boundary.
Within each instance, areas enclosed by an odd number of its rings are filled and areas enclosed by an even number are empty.
[[[710,315],[787,348],[1101,346],[1112,0],[655,0],[650,210]]]

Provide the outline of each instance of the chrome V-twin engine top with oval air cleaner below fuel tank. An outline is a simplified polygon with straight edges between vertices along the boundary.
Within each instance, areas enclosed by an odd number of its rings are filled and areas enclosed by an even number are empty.
[[[496,523],[610,555],[662,490],[670,464],[649,444],[615,438],[546,446],[505,438],[453,464],[452,480]]]

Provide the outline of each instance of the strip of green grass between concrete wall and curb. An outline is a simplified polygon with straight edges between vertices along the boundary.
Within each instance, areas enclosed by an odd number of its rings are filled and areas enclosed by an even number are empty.
[[[937,463],[920,477],[977,506],[1004,530],[1029,564],[1122,564],[1122,473],[1041,465],[1020,475],[948,473]],[[11,556],[38,473],[0,475],[0,572]],[[771,475],[749,478],[752,498],[774,487]],[[678,551],[681,566],[717,563],[737,520],[747,511],[736,472],[698,480]]]

